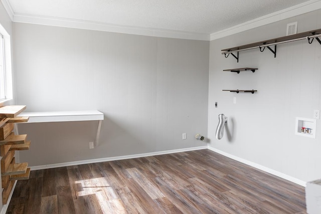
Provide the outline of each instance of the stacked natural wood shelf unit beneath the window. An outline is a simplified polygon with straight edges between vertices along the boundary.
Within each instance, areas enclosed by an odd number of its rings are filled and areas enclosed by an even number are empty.
[[[30,168],[28,163],[16,163],[15,151],[28,150],[30,141],[26,141],[27,135],[15,135],[14,123],[27,122],[28,117],[17,118],[26,109],[26,106],[3,106],[0,107],[0,154],[1,181],[3,204],[8,202],[16,180],[29,179]]]

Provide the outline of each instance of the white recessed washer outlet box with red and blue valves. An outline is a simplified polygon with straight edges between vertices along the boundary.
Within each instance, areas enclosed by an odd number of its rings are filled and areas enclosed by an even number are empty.
[[[302,127],[308,128],[309,132],[302,132]],[[303,118],[303,117],[296,117],[295,118],[295,130],[294,134],[304,136],[304,137],[310,137],[315,138],[316,133],[316,119],[311,118]]]

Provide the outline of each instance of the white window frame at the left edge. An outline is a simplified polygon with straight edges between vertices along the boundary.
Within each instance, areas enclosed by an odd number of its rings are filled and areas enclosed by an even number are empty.
[[[12,65],[11,65],[11,38],[5,28],[0,24],[0,42],[3,41],[4,50],[4,69],[5,79],[2,84],[5,84],[5,99],[0,100],[0,103],[7,102],[13,99],[13,84],[12,84]],[[2,38],[1,38],[2,37]]]

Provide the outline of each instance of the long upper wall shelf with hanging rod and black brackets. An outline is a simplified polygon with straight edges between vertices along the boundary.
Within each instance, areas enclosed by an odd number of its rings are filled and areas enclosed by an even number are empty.
[[[298,40],[308,40],[308,43],[311,44],[312,41],[315,40],[321,45],[321,40],[318,38],[321,36],[321,29],[318,30],[312,30],[312,31],[307,31],[299,34],[294,34],[290,36],[285,36],[285,37],[279,37],[271,40],[265,40],[261,42],[256,42],[248,45],[242,45],[242,46],[237,46],[233,48],[228,48],[228,49],[223,49],[221,50],[227,58],[230,54],[239,62],[239,52],[240,51],[246,51],[246,50],[251,50],[251,49],[256,49],[259,48],[261,52],[264,51],[265,47],[269,49],[273,54],[274,57],[276,57],[276,45],[282,44],[282,43],[287,43],[287,42],[294,42]],[[274,50],[271,49],[269,46],[274,46]],[[233,53],[237,53],[236,55]]]

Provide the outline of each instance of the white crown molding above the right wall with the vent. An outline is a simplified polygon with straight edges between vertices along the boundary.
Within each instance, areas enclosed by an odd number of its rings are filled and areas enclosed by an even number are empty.
[[[223,37],[227,37],[233,34],[241,33],[243,31],[251,30],[257,27],[261,27],[267,24],[271,24],[274,22],[278,22],[281,20],[285,20],[291,17],[299,16],[305,13],[309,13],[312,11],[316,11],[321,9],[321,1],[320,0],[310,0],[308,2],[272,13],[257,19],[242,23],[237,26],[233,26],[231,28],[224,29],[222,31],[218,31],[212,33],[210,35],[210,40],[217,40]]]

